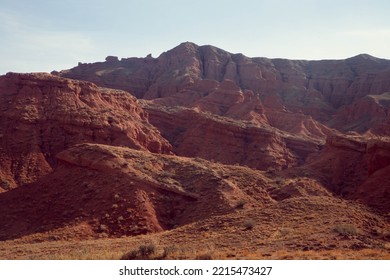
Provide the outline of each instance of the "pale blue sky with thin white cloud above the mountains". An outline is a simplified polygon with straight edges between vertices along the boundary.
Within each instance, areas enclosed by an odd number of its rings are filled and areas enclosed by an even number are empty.
[[[158,57],[186,41],[249,57],[390,59],[389,12],[388,0],[0,0],[0,74]]]

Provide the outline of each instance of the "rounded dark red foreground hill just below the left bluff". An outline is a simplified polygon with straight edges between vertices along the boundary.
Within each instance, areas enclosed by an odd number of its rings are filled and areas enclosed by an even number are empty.
[[[57,158],[52,173],[0,195],[0,240],[61,229],[66,239],[153,233],[232,212],[240,199],[273,201],[264,175],[239,166],[101,144]]]

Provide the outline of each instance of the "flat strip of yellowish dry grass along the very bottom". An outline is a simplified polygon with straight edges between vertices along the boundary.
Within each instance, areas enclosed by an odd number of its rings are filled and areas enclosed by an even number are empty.
[[[43,259],[43,260],[119,260],[119,259],[241,259],[241,260],[390,260],[390,244],[382,248],[361,250],[292,250],[276,249],[263,244],[257,248],[237,246],[221,246],[211,241],[205,243],[188,243],[188,245],[167,243],[168,240],[150,242],[150,237],[91,240],[87,242],[41,242],[36,244],[17,244],[1,242],[1,259]],[[152,250],[148,245],[153,245]],[[144,249],[142,249],[144,248]],[[136,252],[131,258],[125,254]],[[143,252],[143,253],[142,253]],[[131,255],[131,254],[130,254]]]

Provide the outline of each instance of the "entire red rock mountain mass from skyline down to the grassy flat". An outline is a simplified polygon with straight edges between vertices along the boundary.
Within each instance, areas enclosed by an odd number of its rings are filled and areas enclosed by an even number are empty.
[[[390,237],[389,109],[390,61],[369,55],[249,58],[187,42],[158,58],[8,73],[0,240],[236,238],[249,216],[265,243],[306,248],[310,229],[328,248],[337,222],[359,232],[341,243],[372,248]]]

